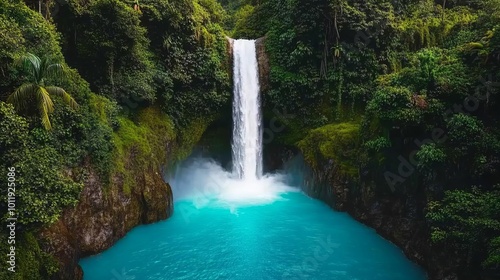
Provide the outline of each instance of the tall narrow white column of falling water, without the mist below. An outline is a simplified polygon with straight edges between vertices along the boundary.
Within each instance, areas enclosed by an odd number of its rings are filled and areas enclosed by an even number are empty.
[[[255,40],[233,41],[233,173],[241,179],[262,175],[262,128]]]

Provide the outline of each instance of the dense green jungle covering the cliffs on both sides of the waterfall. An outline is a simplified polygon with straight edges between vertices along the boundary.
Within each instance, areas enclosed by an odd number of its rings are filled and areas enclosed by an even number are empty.
[[[333,159],[379,197],[425,195],[432,246],[500,273],[499,0],[4,0],[0,176],[13,166],[20,186],[18,279],[58,269],[35,236],[78,203],[89,169],[130,192],[131,150],[168,165],[163,141],[183,159],[228,116],[226,36],[265,37],[265,115],[289,113],[273,145],[312,168]]]

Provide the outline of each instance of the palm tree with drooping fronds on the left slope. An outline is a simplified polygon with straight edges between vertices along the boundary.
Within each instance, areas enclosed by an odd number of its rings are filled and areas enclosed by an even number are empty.
[[[54,111],[51,95],[62,97],[72,109],[78,108],[76,101],[63,88],[45,85],[45,79],[64,77],[63,65],[51,64],[48,59],[42,60],[31,53],[22,56],[17,60],[17,64],[28,73],[28,82],[22,84],[7,99],[7,102],[13,104],[16,110],[20,111],[30,105],[36,105],[43,126],[51,130],[49,114]]]

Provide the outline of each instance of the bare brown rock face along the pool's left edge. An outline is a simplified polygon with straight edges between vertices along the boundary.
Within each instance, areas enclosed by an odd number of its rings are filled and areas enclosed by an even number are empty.
[[[160,170],[139,172],[130,193],[124,193],[121,178],[114,177],[105,188],[89,171],[78,205],[40,233],[44,250],[60,263],[53,279],[82,279],[80,258],[106,250],[136,225],[173,213],[172,190]]]

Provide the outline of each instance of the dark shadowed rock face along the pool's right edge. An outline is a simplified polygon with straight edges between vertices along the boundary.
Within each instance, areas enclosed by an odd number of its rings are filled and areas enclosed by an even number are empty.
[[[400,247],[410,260],[424,267],[430,280],[486,279],[479,275],[471,278],[471,272],[464,271],[464,260],[460,256],[431,245],[424,218],[425,190],[417,192],[423,194],[420,196],[380,194],[373,182],[353,182],[338,176],[335,170],[334,163],[311,170],[306,192],[374,228]]]

